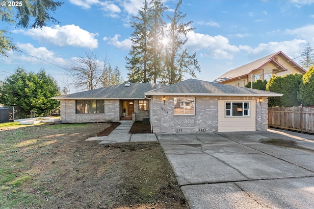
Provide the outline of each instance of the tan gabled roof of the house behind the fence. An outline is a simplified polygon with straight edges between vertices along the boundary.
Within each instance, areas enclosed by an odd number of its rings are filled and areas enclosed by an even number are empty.
[[[241,67],[238,67],[234,70],[230,70],[224,74],[222,74],[221,76],[219,76],[217,79],[215,79],[213,82],[223,82],[226,80],[231,80],[231,79],[235,79],[238,77],[242,77],[245,75],[248,75],[249,73],[251,73],[253,70],[258,70],[263,68],[263,66],[265,66],[268,63],[273,63],[279,70],[282,71],[287,71],[287,69],[285,69],[282,64],[278,63],[274,57],[276,56],[281,56],[286,62],[291,62],[293,63],[293,66],[299,70],[300,72],[306,72],[306,70],[304,70],[301,66],[299,66],[297,63],[295,63],[293,60],[291,60],[286,54],[284,54],[282,51],[278,51],[276,53],[267,55],[265,57],[262,57],[261,59],[258,59],[256,61],[253,61],[251,63],[248,63],[246,65],[243,65]]]

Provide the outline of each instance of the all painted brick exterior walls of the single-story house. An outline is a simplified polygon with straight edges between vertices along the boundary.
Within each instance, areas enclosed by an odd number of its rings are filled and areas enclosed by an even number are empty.
[[[189,96],[182,96],[189,97]],[[194,96],[190,96],[194,97]],[[267,130],[268,112],[267,97],[236,97],[236,96],[195,96],[195,115],[174,116],[174,96],[153,96],[153,132],[154,133],[202,133],[218,131],[218,100],[256,100],[256,130]],[[151,100],[149,100],[151,102]],[[105,122],[112,119],[116,122],[122,116],[121,102],[119,100],[105,100],[104,114],[76,114],[75,99],[62,99],[60,101],[60,114],[62,123]],[[253,111],[253,110],[251,110]],[[150,117],[150,111],[139,111],[138,100],[134,100],[136,120]],[[150,118],[152,121],[152,118]]]

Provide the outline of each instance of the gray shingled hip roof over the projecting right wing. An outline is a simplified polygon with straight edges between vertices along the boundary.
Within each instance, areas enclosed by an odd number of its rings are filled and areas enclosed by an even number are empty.
[[[179,83],[164,86],[146,92],[145,95],[178,95],[178,96],[282,96],[281,93],[267,92],[245,87],[236,87],[197,79],[187,79]]]

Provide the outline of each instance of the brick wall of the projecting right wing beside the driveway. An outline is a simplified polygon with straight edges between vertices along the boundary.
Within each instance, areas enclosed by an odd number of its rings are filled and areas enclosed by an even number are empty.
[[[189,96],[181,96],[189,97]],[[190,96],[194,97],[194,96]],[[267,130],[267,97],[195,96],[195,115],[175,116],[174,96],[153,96],[154,133],[201,133],[218,131],[218,100],[256,100],[256,130]]]

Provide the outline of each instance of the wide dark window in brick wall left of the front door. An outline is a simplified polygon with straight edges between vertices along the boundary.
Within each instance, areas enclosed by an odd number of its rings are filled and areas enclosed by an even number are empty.
[[[76,113],[105,113],[104,100],[76,100]]]

